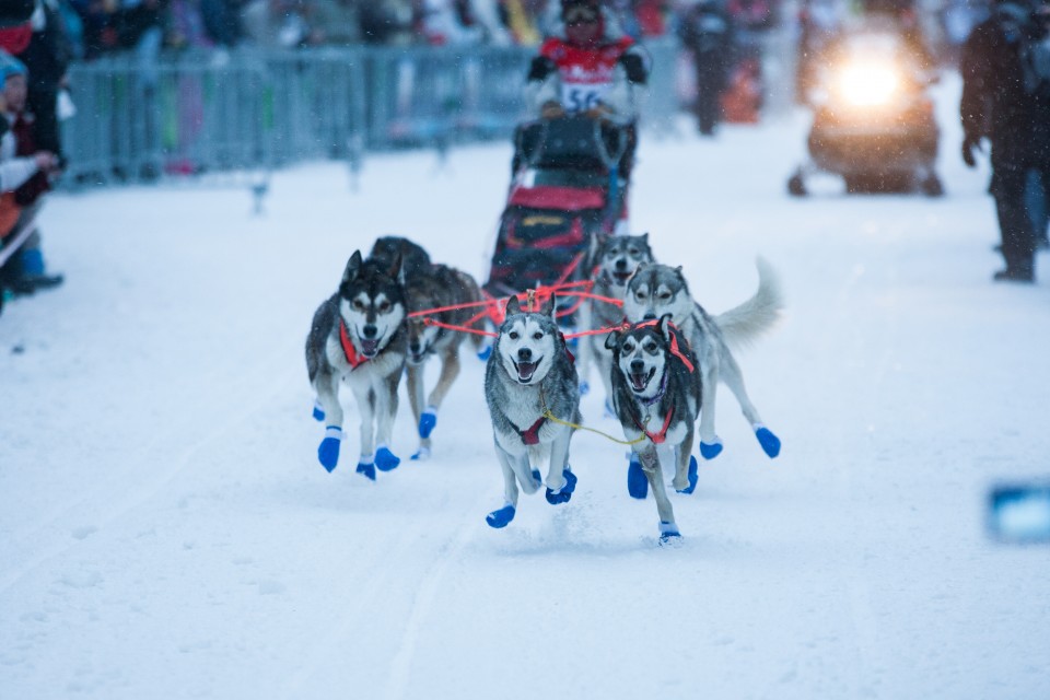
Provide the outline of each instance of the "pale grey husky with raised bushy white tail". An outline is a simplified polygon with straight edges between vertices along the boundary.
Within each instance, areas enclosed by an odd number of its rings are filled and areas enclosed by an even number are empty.
[[[646,265],[639,268],[627,287],[623,311],[631,323],[670,314],[700,361],[703,410],[700,413],[700,454],[713,459],[722,452],[714,431],[714,397],[719,381],[725,382],[739,401],[744,417],[766,454],[780,454],[780,439],[766,425],[744,388],[744,375],[730,348],[757,338],[777,322],[783,308],[780,284],[772,268],[758,258],[758,291],[743,304],[711,316],[689,294],[681,268]]]

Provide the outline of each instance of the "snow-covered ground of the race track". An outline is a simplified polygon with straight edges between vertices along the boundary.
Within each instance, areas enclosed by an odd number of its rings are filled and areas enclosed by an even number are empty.
[[[657,256],[718,313],[761,254],[789,304],[740,355],[783,452],[723,388],[677,549],[591,433],[571,503],[523,495],[487,527],[472,359],[432,460],[354,475],[346,393],[342,462],[317,464],[316,304],[386,233],[482,275],[508,145],[374,156],[357,190],[338,164],[282,172],[264,215],[235,188],[52,197],[67,283],[0,318],[0,698],[1046,697],[1050,547],[982,517],[990,485],[1050,471],[1050,292],[991,282],[988,172],[942,93],[941,200],[789,199],[801,114],[643,141],[632,220]]]

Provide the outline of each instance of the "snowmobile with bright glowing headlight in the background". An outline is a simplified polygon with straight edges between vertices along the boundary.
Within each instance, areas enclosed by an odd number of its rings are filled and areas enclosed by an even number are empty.
[[[788,180],[789,194],[807,195],[806,178],[841,175],[848,192],[944,194],[934,172],[940,130],[928,94],[934,82],[906,38],[867,27],[829,47],[809,104],[809,160]]]

